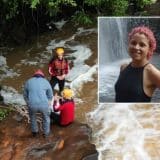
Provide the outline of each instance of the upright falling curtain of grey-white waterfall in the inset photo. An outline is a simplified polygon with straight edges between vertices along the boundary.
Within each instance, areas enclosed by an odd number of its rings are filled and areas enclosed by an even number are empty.
[[[99,18],[99,63],[108,64],[127,57],[126,18]]]

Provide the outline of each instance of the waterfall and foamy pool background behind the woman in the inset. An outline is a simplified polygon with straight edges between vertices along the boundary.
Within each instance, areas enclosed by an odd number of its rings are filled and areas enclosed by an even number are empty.
[[[118,79],[120,66],[129,63],[127,53],[128,28],[137,25],[155,24],[157,19],[149,18],[100,18],[99,19],[99,102],[115,102],[114,85]],[[151,23],[152,22],[152,23]],[[150,60],[160,69],[160,56]],[[153,95],[152,102],[160,101],[160,90]]]

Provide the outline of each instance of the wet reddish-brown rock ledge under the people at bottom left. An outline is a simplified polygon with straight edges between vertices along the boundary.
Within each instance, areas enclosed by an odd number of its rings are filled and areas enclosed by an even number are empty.
[[[52,125],[48,138],[44,138],[42,132],[35,138],[32,137],[30,124],[24,119],[19,123],[15,116],[10,114],[0,122],[0,159],[98,159],[95,145],[89,142],[91,129],[86,124],[74,122],[68,127]]]

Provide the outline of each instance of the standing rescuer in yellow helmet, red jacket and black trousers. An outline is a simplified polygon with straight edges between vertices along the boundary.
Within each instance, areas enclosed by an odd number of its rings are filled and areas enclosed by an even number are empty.
[[[52,58],[49,63],[49,74],[51,75],[50,83],[53,90],[55,85],[58,83],[59,92],[61,93],[65,86],[65,77],[68,74],[69,64],[64,58],[64,48],[56,48],[55,53],[56,57]]]

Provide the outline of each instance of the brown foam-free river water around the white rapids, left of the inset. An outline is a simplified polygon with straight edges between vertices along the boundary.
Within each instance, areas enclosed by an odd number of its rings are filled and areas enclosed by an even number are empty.
[[[5,57],[8,67],[12,68],[14,72],[19,74],[19,76],[5,78],[0,83],[5,86],[11,86],[19,93],[22,93],[24,82],[30,78],[34,71],[38,68],[43,69],[47,79],[49,80],[48,62],[52,57],[52,53],[48,53],[46,48],[52,40],[61,41],[73,36],[76,32],[77,28],[71,28],[70,24],[66,24],[63,30],[50,34],[44,34],[39,37],[38,41],[37,38],[35,38],[29,45],[14,48]],[[97,63],[96,32],[87,35],[85,33],[77,35],[74,40],[71,40],[68,43],[86,45],[91,49],[92,55],[85,61],[85,64],[92,67]],[[69,54],[72,54],[72,51]],[[93,80],[91,82],[85,82],[84,86],[79,90],[79,92],[76,93],[76,97],[81,99],[81,103],[77,104],[76,109],[77,120],[86,122],[86,112],[92,110],[97,102],[96,92],[97,76],[95,74],[93,75]]]

